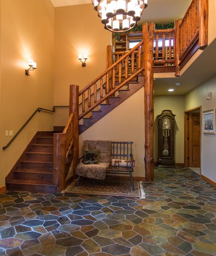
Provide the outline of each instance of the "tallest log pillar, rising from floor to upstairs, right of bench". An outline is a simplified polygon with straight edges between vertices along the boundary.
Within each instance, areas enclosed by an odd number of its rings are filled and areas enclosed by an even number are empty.
[[[145,118],[145,179],[154,181],[154,92],[153,49],[154,23],[143,24],[144,42],[144,118]]]

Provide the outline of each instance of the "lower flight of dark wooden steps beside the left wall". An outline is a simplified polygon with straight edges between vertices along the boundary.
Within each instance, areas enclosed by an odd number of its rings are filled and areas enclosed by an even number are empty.
[[[7,176],[7,190],[55,193],[52,170],[53,132],[37,132]]]

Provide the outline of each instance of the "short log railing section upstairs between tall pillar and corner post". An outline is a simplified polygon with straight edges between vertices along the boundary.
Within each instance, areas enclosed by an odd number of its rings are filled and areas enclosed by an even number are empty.
[[[175,64],[175,29],[154,30],[154,66]]]

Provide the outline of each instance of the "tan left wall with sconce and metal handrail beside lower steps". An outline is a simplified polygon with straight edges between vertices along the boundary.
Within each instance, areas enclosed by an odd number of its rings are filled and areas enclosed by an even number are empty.
[[[54,7],[50,0],[0,1],[0,147],[37,107],[53,106]],[[37,69],[25,75],[28,60]],[[0,186],[38,130],[51,130],[53,115],[37,113],[10,148],[0,149]]]

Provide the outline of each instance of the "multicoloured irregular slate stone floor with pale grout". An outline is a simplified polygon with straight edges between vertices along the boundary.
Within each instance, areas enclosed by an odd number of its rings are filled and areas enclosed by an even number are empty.
[[[0,256],[216,255],[216,189],[190,169],[155,169],[145,199],[6,192]]]

